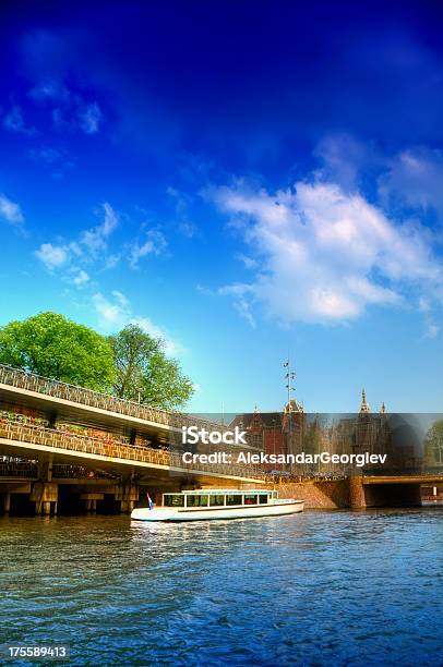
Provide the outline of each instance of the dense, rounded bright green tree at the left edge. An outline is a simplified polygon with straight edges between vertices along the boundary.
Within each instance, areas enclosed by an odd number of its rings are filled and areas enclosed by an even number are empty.
[[[116,376],[105,337],[50,312],[0,328],[0,363],[97,391],[109,391]]]

